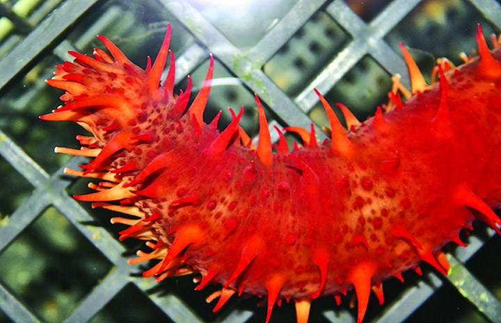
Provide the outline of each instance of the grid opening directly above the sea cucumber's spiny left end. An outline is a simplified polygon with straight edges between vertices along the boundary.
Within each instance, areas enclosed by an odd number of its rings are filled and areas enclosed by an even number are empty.
[[[193,37],[156,1],[103,1],[81,19],[67,40],[82,53],[91,54],[95,47],[105,49],[95,37],[104,35],[144,68],[147,56],[157,57],[168,23],[173,24],[170,49],[181,53]]]

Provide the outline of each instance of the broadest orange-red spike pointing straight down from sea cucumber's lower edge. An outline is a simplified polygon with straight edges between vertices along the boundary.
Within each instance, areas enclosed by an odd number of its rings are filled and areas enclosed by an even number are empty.
[[[374,272],[376,272],[376,265],[369,261],[359,263],[349,271],[349,279],[355,287],[358,300],[357,323],[362,323],[365,311],[367,310],[371,291],[371,279]]]

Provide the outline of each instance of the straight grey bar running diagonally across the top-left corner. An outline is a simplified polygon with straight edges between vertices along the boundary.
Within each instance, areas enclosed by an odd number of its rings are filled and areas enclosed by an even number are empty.
[[[0,60],[0,89],[26,68],[97,0],[67,0]]]

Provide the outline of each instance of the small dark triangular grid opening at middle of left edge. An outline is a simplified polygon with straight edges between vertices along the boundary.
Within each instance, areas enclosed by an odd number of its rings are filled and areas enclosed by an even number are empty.
[[[10,215],[29,197],[33,186],[7,161],[0,157],[0,187],[8,191],[0,194],[0,227],[6,226]]]

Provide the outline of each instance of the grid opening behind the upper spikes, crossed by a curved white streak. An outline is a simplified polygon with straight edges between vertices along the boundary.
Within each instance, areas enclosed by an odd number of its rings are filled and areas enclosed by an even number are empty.
[[[206,60],[205,63],[191,73],[193,81],[191,101],[193,101],[198,90],[200,90],[208,68],[209,60]],[[178,88],[186,88],[186,79],[180,82]],[[176,91],[179,92],[179,90]],[[191,101],[189,104],[191,104]],[[228,112],[228,107],[232,108],[238,114],[241,106],[244,106],[244,115],[239,124],[248,131],[248,135],[253,136],[259,131],[255,99],[239,78],[230,73],[216,58],[214,60],[212,88],[204,113],[205,122],[211,122],[221,110],[223,114],[219,119],[218,128],[224,129],[232,120]]]

